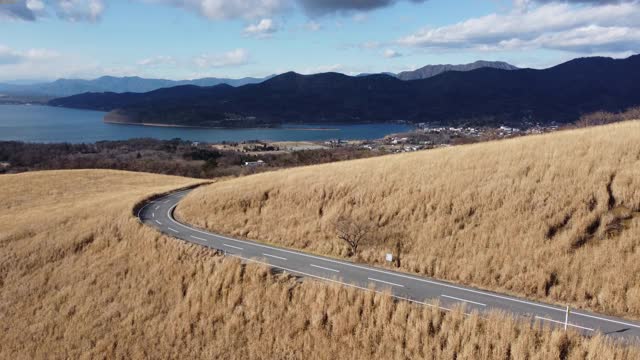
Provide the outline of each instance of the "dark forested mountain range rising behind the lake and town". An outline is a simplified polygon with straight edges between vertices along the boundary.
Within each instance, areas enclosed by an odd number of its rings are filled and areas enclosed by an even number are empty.
[[[391,120],[474,126],[566,123],[587,112],[640,104],[640,55],[580,58],[545,70],[448,71],[414,81],[290,72],[235,88],[93,93],[50,104],[109,111],[107,121],[211,127]]]

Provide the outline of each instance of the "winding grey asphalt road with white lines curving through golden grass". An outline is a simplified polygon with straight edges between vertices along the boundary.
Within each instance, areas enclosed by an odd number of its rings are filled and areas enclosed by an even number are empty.
[[[146,203],[138,218],[146,225],[172,237],[224,252],[244,261],[258,262],[297,276],[339,283],[368,291],[391,291],[391,296],[448,311],[456,304],[466,304],[466,311],[502,310],[531,321],[564,327],[566,308],[529,301],[471,287],[450,284],[405,273],[354,264],[328,257],[306,254],[252,241],[238,240],[197,229],[178,222],[173,210],[189,193],[184,190]],[[640,339],[640,322],[585,311],[571,311],[568,327],[585,334],[597,332],[626,340]]]

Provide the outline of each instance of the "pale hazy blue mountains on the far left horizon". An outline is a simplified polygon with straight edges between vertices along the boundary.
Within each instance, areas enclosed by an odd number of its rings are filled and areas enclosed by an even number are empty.
[[[195,80],[164,80],[164,79],[144,79],[137,76],[134,77],[113,77],[103,76],[94,80],[82,79],[60,79],[48,83],[39,84],[1,84],[0,93],[8,95],[21,96],[50,96],[61,97],[86,92],[137,92],[144,93],[157,89],[181,86],[214,86],[219,84],[227,84],[231,86],[242,86],[247,84],[255,84],[262,82],[266,78],[242,78],[242,79],[224,79],[224,78],[202,78]]]

